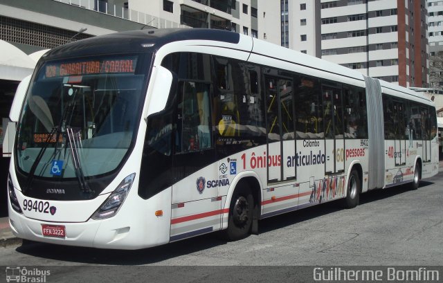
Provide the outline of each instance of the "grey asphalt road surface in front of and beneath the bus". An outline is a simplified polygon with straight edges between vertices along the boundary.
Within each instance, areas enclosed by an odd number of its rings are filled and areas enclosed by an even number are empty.
[[[72,276],[80,282],[90,282],[94,276],[111,281],[119,276],[134,279],[147,270],[157,276],[152,282],[177,271],[181,271],[180,282],[206,281],[209,275],[216,275],[213,282],[218,277],[226,282],[226,276],[238,280],[246,274],[243,268],[226,266],[261,266],[248,269],[257,276],[256,282],[271,275],[280,275],[279,281],[285,282],[296,273],[297,277],[306,273],[309,281],[312,268],[299,268],[292,274],[294,269],[276,266],[443,266],[442,181],[440,172],[422,181],[415,191],[401,186],[369,192],[351,210],[332,202],[264,219],[260,235],[241,241],[226,242],[210,234],[135,251],[28,244],[0,248],[0,265],[51,266],[56,271],[46,282],[55,278],[69,282]],[[175,267],[172,272],[172,268],[144,265]]]

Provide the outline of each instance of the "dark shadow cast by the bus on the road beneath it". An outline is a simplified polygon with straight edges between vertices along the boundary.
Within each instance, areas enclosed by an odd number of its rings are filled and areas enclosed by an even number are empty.
[[[419,190],[432,185],[433,182],[422,181]],[[418,192],[419,192],[418,190]],[[381,199],[388,199],[399,194],[415,192],[410,190],[410,184],[399,185],[386,190],[374,190],[360,196],[360,204],[371,203]],[[272,230],[285,228],[297,223],[302,223],[310,219],[315,219],[326,214],[344,210],[341,206],[341,200],[322,203],[319,206],[312,206],[302,210],[296,210],[281,214],[275,217],[262,219],[259,225],[259,232],[264,234]],[[260,237],[260,235],[259,235]],[[26,243],[19,246],[16,250],[19,253],[45,259],[46,264],[49,261],[60,261],[70,265],[78,264],[103,264],[103,265],[141,265],[156,264],[174,257],[198,253],[201,250],[215,248],[227,244],[227,241],[221,239],[219,234],[211,233],[201,235],[183,241],[177,241],[154,248],[145,248],[142,250],[105,250],[98,248],[82,248],[73,246],[58,246],[43,243]]]

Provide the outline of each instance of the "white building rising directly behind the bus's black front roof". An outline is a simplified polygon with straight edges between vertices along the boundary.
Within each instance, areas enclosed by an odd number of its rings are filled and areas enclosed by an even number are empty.
[[[129,9],[158,15],[172,23],[180,23],[191,28],[215,28],[232,30],[251,37],[265,39],[280,44],[275,30],[280,28],[278,21],[280,8],[273,1],[265,0],[126,0]],[[152,24],[156,24],[153,19]]]

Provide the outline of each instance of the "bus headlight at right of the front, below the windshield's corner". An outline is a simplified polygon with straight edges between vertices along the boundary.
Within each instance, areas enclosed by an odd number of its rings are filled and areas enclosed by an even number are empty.
[[[123,179],[116,190],[114,190],[114,192],[111,193],[100,208],[94,212],[91,218],[94,220],[107,219],[117,214],[118,210],[123,204],[123,201],[126,199],[129,189],[131,189],[135,176],[136,174],[132,173]]]

